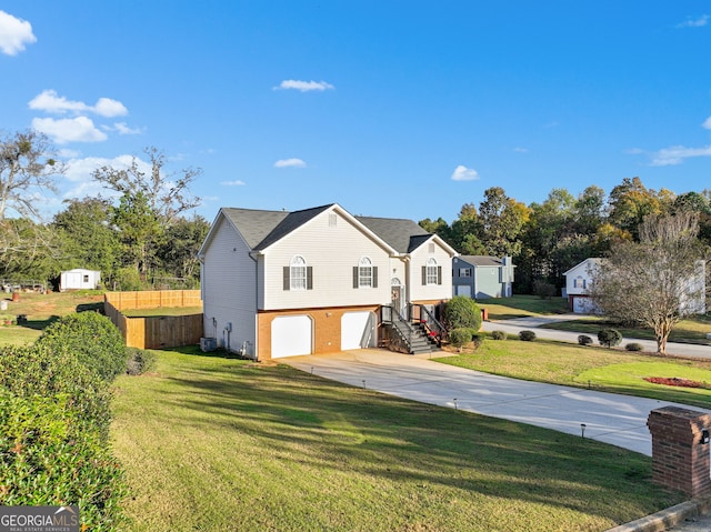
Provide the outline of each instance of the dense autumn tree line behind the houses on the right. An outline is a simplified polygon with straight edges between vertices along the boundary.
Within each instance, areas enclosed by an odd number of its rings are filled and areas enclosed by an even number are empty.
[[[711,249],[711,191],[675,194],[648,189],[639,177],[624,178],[609,194],[590,185],[578,197],[552,189],[544,201],[529,205],[500,187],[483,200],[462,205],[450,224],[442,218],[419,223],[462,254],[511,257],[517,265],[514,291],[533,293],[537,282],[564,285],[563,273],[591,257],[608,257],[623,242],[639,242],[649,217],[691,214],[698,220],[697,242]]]

